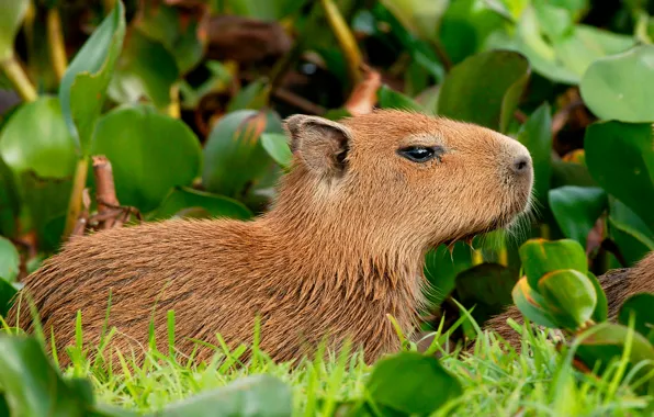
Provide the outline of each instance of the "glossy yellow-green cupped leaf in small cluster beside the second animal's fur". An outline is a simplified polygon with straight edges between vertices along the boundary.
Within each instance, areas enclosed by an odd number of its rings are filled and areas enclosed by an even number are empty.
[[[560,326],[576,330],[590,319],[597,305],[595,285],[588,277],[572,269],[544,274],[538,282],[543,307]]]

